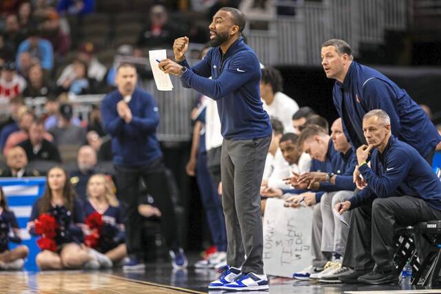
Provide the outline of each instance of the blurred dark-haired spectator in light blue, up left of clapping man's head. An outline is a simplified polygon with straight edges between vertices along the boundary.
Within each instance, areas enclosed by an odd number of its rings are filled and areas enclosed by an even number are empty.
[[[84,95],[94,92],[94,81],[88,78],[88,63],[75,59],[72,63],[73,72],[59,87],[59,91],[68,92],[70,95]]]

